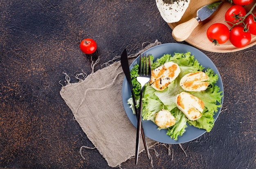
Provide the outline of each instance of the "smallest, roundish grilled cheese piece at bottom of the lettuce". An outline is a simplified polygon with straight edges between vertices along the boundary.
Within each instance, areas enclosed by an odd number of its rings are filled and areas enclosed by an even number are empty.
[[[160,128],[168,128],[175,124],[175,117],[168,110],[160,110],[155,116],[155,124]]]

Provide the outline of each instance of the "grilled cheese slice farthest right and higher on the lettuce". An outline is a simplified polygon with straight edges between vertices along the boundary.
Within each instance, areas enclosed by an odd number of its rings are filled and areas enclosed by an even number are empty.
[[[200,92],[209,86],[209,77],[204,72],[188,73],[180,79],[180,86],[186,91]]]

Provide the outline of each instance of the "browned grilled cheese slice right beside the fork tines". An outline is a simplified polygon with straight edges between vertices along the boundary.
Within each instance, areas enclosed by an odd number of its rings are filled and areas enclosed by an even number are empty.
[[[180,74],[178,64],[169,61],[151,71],[150,84],[155,90],[162,91]]]

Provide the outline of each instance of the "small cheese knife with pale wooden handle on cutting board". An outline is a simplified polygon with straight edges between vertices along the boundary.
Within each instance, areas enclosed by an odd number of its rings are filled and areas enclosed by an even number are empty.
[[[182,24],[175,26],[172,35],[175,40],[182,42],[186,40],[198,24],[209,18],[220,7],[222,0],[207,4],[197,11],[197,16]],[[187,31],[185,31],[187,30]]]

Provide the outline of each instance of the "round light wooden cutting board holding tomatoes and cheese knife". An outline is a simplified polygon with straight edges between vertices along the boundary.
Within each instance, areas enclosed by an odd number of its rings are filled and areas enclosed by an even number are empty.
[[[179,22],[175,22],[175,23],[168,23],[168,25],[171,27],[171,29],[173,29],[178,24],[186,22],[186,21],[190,20],[191,18],[195,17],[196,11],[199,8],[203,7],[206,4],[216,2],[216,1],[217,0],[191,0],[189,7],[186,9],[181,20]],[[247,12],[252,8],[254,3],[256,3],[256,0],[254,0],[252,2],[252,4],[245,6],[245,9]],[[186,39],[185,41],[188,42],[189,44],[191,44],[192,46],[195,46],[196,48],[200,48],[202,50],[206,50],[206,51],[210,51],[210,52],[218,52],[218,53],[235,52],[235,51],[243,50],[245,48],[249,48],[253,45],[256,45],[256,36],[255,35],[252,35],[252,40],[251,40],[250,44],[243,48],[236,48],[229,41],[227,41],[225,44],[220,44],[219,46],[214,46],[214,44],[212,44],[208,40],[208,38],[206,36],[206,31],[211,24],[223,23],[223,24],[226,24],[229,28],[231,28],[231,26],[229,26],[227,23],[225,23],[225,13],[226,13],[227,9],[229,9],[229,7],[231,7],[231,4],[229,4],[229,2],[227,2],[226,0],[223,0],[221,6],[217,9],[217,11],[215,13],[213,13],[213,15],[211,15],[210,18],[201,22],[191,33],[189,38]],[[254,13],[256,13],[256,9],[254,9]]]

